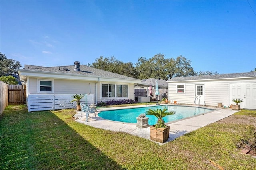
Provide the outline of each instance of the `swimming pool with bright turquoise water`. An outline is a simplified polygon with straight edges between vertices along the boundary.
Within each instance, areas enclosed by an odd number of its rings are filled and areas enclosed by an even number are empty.
[[[179,119],[183,119],[186,117],[192,117],[195,115],[200,115],[209,111],[213,111],[213,109],[206,109],[202,107],[191,107],[191,106],[173,106],[173,105],[161,105],[161,106],[151,106],[151,107],[138,107],[132,109],[118,109],[111,111],[101,111],[98,116],[104,119],[118,121],[118,122],[126,122],[126,123],[137,123],[136,117],[140,114],[145,113],[148,109],[164,109],[168,108],[168,111],[176,111],[174,115],[168,115],[164,117],[164,121],[176,121]],[[156,124],[157,118],[153,115],[146,115],[148,117],[148,124],[154,125]]]

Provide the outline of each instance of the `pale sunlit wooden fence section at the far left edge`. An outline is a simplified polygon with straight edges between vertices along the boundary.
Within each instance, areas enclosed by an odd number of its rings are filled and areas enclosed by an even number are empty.
[[[8,84],[0,81],[0,115],[8,106]]]

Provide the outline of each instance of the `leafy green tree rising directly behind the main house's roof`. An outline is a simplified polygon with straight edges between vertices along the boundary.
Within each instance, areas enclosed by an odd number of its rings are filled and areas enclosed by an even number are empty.
[[[88,63],[87,65],[96,69],[138,78],[138,72],[132,62],[124,63],[116,59],[114,56],[106,58],[100,56],[100,58],[96,59],[92,64]]]

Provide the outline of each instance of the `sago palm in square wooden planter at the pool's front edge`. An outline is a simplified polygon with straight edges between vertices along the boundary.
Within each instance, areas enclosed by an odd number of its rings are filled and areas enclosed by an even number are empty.
[[[173,115],[176,112],[167,111],[167,108],[162,109],[149,109],[146,115],[154,115],[158,118],[156,125],[150,126],[150,139],[156,142],[164,143],[169,138],[170,126],[165,125],[164,117]]]

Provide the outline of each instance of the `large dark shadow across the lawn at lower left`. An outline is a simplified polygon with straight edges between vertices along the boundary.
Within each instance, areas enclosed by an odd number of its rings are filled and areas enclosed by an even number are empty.
[[[10,107],[0,119],[0,169],[124,169],[51,111]]]

